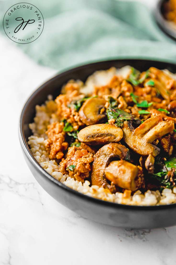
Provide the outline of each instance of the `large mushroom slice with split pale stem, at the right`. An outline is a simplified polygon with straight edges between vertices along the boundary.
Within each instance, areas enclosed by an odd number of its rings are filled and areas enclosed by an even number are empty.
[[[161,115],[151,117],[144,121],[135,130],[131,130],[130,122],[123,123],[123,139],[136,153],[143,156],[156,156],[160,149],[151,144],[155,139],[173,131],[174,124],[164,122]]]

